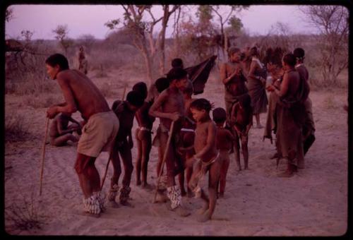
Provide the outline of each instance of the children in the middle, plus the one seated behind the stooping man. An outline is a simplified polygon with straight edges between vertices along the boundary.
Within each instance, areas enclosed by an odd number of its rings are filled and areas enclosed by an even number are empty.
[[[148,101],[148,88],[143,82],[136,83],[128,92],[126,100],[116,100],[112,104],[112,111],[119,119],[119,131],[109,152],[109,160],[112,161],[114,173],[110,182],[108,193],[109,206],[131,206],[129,193],[131,192],[131,175],[133,172],[133,158],[131,149],[133,139],[131,129],[133,119],[136,117],[138,127],[135,132],[137,156],[135,162],[136,186],[152,189],[148,184],[148,161],[152,145],[158,148],[157,176],[162,174],[165,155],[166,171],[162,181],[156,184],[157,201],[165,201],[169,198],[171,204],[169,210],[177,212],[181,216],[188,216],[190,212],[181,203],[181,196],[201,198],[204,200],[198,220],[205,222],[210,220],[215,210],[217,198],[225,194],[226,176],[229,167],[229,152],[233,150],[233,143],[239,140],[247,141],[247,134],[251,124],[251,116],[242,111],[248,104],[248,99],[233,104],[232,122],[234,131],[225,128],[227,114],[225,109],[217,107],[204,98],[194,99],[193,85],[184,70],[181,59],[172,61],[172,69],[166,78],[158,78],[152,86],[157,94]],[[248,95],[249,97],[249,95]],[[245,105],[244,105],[245,104]],[[213,121],[210,112],[213,109]],[[80,133],[81,124],[72,119],[71,115],[59,114],[52,123],[52,145],[63,145],[67,140],[78,141],[78,136],[73,131]],[[160,119],[155,138],[152,140],[152,124],[155,118]],[[246,121],[244,121],[246,119]],[[68,126],[68,121],[74,124]],[[252,122],[252,121],[251,121]],[[245,123],[245,125],[244,125]],[[66,128],[62,131],[58,129]],[[235,134],[234,134],[235,133]],[[171,135],[169,137],[169,135]],[[170,140],[168,141],[168,138]],[[248,167],[247,146],[243,148],[245,165]],[[240,169],[239,151],[237,164]],[[124,177],[119,189],[121,175],[121,163],[124,166]],[[209,172],[208,196],[201,188],[201,181]],[[184,174],[186,173],[186,188]],[[179,175],[179,185],[175,176]],[[120,190],[120,194],[118,191]],[[167,190],[167,191],[166,191]],[[118,198],[119,197],[119,198]],[[100,203],[104,209],[104,203]]]

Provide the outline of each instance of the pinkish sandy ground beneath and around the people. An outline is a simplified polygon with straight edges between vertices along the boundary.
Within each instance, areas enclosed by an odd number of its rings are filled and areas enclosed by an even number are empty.
[[[142,79],[142,78],[140,78]],[[97,85],[102,78],[93,79]],[[103,79],[104,80],[104,79]],[[139,79],[129,82],[128,90]],[[119,78],[118,78],[119,81]],[[122,89],[121,89],[122,92]],[[109,104],[119,98],[108,98]],[[215,77],[208,81],[205,92],[196,97],[208,98],[215,107],[224,107],[223,87]],[[292,178],[277,177],[285,169],[285,160],[276,170],[269,157],[275,146],[263,142],[263,129],[253,128],[249,136],[249,170],[237,172],[234,155],[227,174],[225,198],[217,200],[213,220],[196,221],[201,200],[183,198],[191,211],[179,217],[167,210],[165,203],[152,204],[152,191],[131,181],[131,203],[134,208],[107,208],[100,218],[82,214],[78,178],[73,169],[76,147],[55,148],[47,145],[42,196],[39,196],[40,160],[44,136],[44,112],[21,104],[18,97],[6,95],[6,113],[18,108],[18,114],[30,125],[32,138],[6,143],[5,207],[8,212],[27,208],[33,200],[33,212],[39,216],[41,229],[21,230],[5,217],[8,234],[25,235],[190,235],[190,236],[338,236],[347,230],[347,90],[313,91],[313,117],[316,142],[306,155],[306,168]],[[80,119],[79,114],[74,114]],[[266,114],[261,114],[265,124]],[[133,131],[136,128],[136,122]],[[157,122],[154,128],[157,128]],[[133,148],[135,162],[136,148]],[[97,158],[100,175],[107,164],[107,152]],[[156,181],[157,149],[152,148],[148,181]],[[241,162],[243,164],[242,156]],[[109,189],[109,168],[103,191]],[[208,179],[206,178],[205,181]],[[121,180],[120,180],[121,181]],[[27,204],[26,204],[27,202]],[[29,203],[28,203],[29,202]]]

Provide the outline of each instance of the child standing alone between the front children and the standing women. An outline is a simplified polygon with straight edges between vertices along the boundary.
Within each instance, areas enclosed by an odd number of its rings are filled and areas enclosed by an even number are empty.
[[[244,157],[244,169],[248,169],[249,151],[248,151],[248,134],[253,125],[253,110],[251,108],[251,98],[249,94],[244,94],[238,97],[238,102],[235,102],[232,107],[231,125],[234,129],[235,138],[235,160],[237,162],[238,171],[241,171],[240,155],[239,155],[239,140],[241,150]]]

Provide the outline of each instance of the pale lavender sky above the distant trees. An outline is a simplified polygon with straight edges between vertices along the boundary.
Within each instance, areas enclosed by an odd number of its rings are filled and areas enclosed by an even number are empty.
[[[57,25],[68,26],[68,37],[77,38],[90,34],[97,39],[104,39],[109,29],[104,26],[108,20],[123,19],[123,9],[119,5],[13,5],[13,18],[6,23],[6,38],[20,36],[22,30],[34,32],[32,39],[52,39],[52,30]],[[188,13],[195,18],[197,6],[189,5]],[[152,8],[153,9],[153,8]],[[156,13],[158,7],[155,8]],[[215,16],[216,19],[217,16]],[[304,22],[304,16],[298,6],[252,5],[249,10],[237,13],[244,28],[251,35],[265,35],[277,22],[285,23],[291,32],[313,33],[315,28]],[[172,33],[174,17],[169,21],[167,37]]]

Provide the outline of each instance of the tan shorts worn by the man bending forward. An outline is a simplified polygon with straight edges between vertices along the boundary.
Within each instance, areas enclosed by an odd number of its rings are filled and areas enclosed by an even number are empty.
[[[118,130],[119,119],[114,112],[93,114],[83,126],[77,152],[90,157],[98,157],[100,152],[111,148]]]

